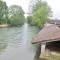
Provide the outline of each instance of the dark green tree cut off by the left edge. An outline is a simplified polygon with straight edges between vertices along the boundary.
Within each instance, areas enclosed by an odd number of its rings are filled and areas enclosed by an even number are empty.
[[[0,24],[7,23],[8,19],[8,7],[6,2],[0,0]]]

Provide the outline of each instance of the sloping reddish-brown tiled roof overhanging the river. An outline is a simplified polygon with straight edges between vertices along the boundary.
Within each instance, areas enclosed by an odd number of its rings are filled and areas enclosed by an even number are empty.
[[[34,38],[32,43],[54,41],[60,38],[60,28],[56,25],[44,27]]]

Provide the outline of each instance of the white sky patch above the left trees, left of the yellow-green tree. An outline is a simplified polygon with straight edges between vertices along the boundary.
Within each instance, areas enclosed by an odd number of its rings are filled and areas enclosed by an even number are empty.
[[[30,0],[3,0],[3,1],[6,1],[8,6],[11,6],[11,5],[22,6],[24,12],[26,13],[25,16],[27,16],[28,5],[29,5]]]

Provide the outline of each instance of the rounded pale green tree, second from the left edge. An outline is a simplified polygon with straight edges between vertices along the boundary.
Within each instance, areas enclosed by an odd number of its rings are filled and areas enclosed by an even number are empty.
[[[10,25],[20,26],[24,23],[24,11],[21,6],[12,5],[9,7]]]

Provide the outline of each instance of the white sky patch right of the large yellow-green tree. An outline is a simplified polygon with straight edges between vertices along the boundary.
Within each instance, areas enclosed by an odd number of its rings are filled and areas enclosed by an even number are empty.
[[[46,0],[53,11],[53,18],[60,19],[60,0]]]

